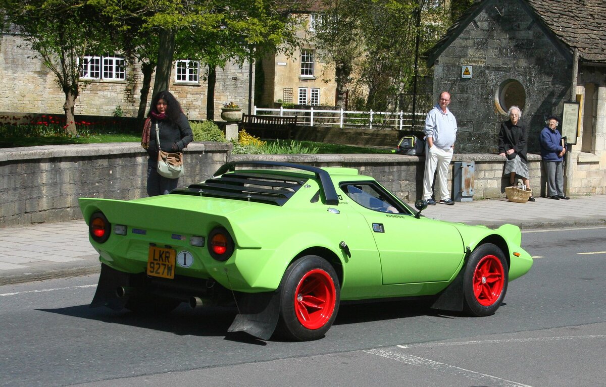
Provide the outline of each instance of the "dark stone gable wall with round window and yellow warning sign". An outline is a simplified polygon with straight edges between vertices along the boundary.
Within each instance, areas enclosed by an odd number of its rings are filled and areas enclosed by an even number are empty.
[[[528,151],[539,152],[539,133],[550,114],[561,115],[570,98],[572,65],[561,46],[522,2],[493,1],[448,45],[434,66],[434,94],[450,91],[461,152],[496,153],[499,127],[507,112],[499,104],[502,85],[524,88],[522,122],[528,125]],[[568,56],[570,54],[568,53]],[[472,67],[462,78],[462,66]]]

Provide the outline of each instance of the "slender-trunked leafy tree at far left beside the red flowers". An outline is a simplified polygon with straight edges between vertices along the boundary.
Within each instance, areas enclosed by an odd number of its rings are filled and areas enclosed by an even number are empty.
[[[108,48],[104,21],[85,1],[0,0],[8,22],[16,25],[32,50],[56,76],[65,94],[65,131],[75,136],[74,107],[80,91],[79,65],[88,52]]]

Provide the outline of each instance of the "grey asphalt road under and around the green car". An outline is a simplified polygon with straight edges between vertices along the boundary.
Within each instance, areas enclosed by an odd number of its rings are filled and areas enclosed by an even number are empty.
[[[526,231],[534,266],[494,316],[348,305],[305,343],[225,336],[226,309],[90,309],[96,276],[2,286],[0,386],[605,385],[605,235]]]

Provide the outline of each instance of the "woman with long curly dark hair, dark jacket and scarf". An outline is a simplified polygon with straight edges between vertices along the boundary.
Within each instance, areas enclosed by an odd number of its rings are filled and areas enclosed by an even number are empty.
[[[180,152],[193,140],[193,133],[181,105],[173,94],[160,91],[151,99],[141,145],[147,150],[147,194],[163,195],[177,188],[179,178],[168,179],[158,174],[158,142],[156,125],[159,129],[160,148],[165,152]]]

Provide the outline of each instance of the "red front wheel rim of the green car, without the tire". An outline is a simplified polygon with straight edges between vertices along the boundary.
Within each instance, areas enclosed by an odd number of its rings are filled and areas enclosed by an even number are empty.
[[[473,294],[480,305],[493,305],[503,291],[505,270],[498,257],[483,257],[473,273]]]

